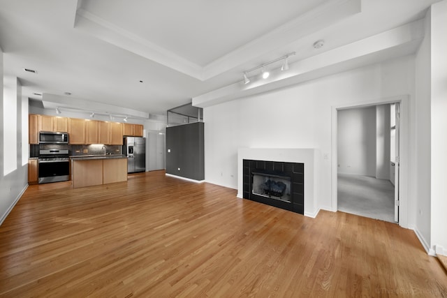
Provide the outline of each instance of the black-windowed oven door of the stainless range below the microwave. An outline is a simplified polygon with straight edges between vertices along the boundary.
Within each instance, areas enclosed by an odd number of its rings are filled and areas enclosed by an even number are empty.
[[[43,158],[38,160],[38,183],[70,180],[70,160]]]

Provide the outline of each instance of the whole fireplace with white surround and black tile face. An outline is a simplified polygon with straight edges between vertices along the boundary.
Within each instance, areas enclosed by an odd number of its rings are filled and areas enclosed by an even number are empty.
[[[315,217],[320,163],[321,152],[313,148],[240,148],[237,198]]]

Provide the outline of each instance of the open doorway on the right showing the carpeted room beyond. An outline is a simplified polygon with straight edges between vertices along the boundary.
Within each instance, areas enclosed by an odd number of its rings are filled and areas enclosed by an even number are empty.
[[[399,107],[337,110],[337,210],[398,223]]]

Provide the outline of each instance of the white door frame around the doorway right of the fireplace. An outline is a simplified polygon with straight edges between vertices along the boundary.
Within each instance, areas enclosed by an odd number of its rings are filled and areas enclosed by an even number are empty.
[[[399,208],[399,225],[403,228],[408,227],[408,188],[409,188],[409,96],[393,96],[387,98],[378,98],[376,100],[369,100],[362,103],[346,103],[344,105],[333,105],[331,107],[331,208],[336,212],[338,209],[337,198],[337,172],[338,172],[338,151],[337,151],[337,112],[355,107],[368,107],[372,105],[383,105],[386,103],[400,103],[400,208]]]

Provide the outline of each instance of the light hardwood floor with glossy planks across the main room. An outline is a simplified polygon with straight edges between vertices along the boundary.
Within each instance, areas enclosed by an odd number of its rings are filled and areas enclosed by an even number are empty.
[[[163,171],[29,186],[0,227],[0,297],[447,297],[411,230],[235,195]]]

